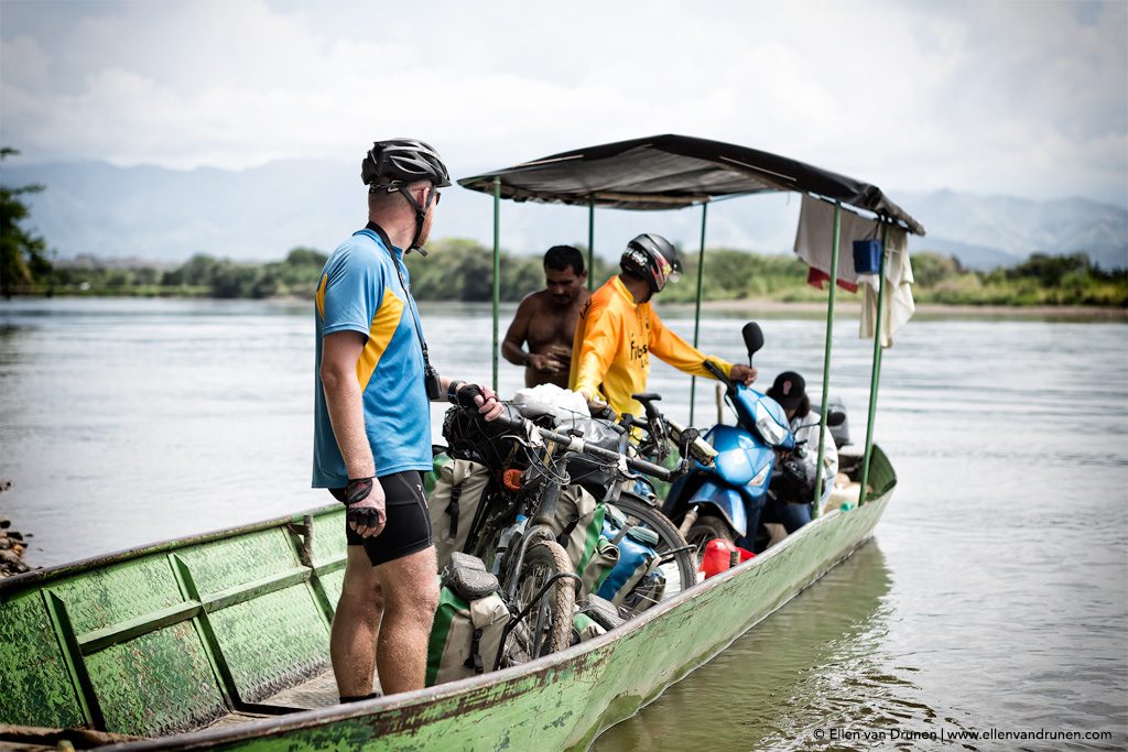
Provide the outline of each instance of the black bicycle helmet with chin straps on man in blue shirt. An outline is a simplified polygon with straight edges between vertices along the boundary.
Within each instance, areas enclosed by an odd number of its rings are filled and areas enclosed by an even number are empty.
[[[438,194],[431,191],[428,194],[426,205],[420,206],[407,186],[418,180],[430,180],[435,188],[450,185],[450,174],[447,172],[447,166],[442,163],[434,147],[417,139],[377,141],[360,163],[360,179],[368,186],[369,193],[387,191],[403,194],[415,210],[415,237],[412,238],[412,245],[407,250],[417,250],[422,256],[426,256],[426,250],[418,245],[420,236],[423,235],[423,220]]]

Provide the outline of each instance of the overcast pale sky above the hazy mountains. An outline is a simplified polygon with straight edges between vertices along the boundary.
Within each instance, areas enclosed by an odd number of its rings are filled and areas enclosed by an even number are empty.
[[[21,162],[431,141],[456,177],[684,133],[885,189],[1128,205],[1128,3],[0,0]]]

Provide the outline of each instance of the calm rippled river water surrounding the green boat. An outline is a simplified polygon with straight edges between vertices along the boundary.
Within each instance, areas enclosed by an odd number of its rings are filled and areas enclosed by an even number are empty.
[[[325,503],[308,488],[310,308],[0,302],[0,480],[14,481],[0,514],[34,533],[29,561]],[[440,370],[488,380],[488,311],[422,309]],[[666,313],[687,337],[690,317]],[[740,360],[747,315],[710,317],[703,350]],[[821,319],[756,317],[761,380],[794,369],[818,393]],[[831,393],[860,442],[872,343],[856,328],[836,321]],[[910,322],[882,370],[876,439],[900,484],[874,540],[593,749],[1125,749],[1126,335],[1109,322]],[[503,395],[520,379],[502,363]],[[659,364],[651,386],[687,417],[686,379]],[[696,422],[715,416],[699,384]],[[1041,731],[1111,737],[999,741]],[[969,732],[996,738],[951,741]]]

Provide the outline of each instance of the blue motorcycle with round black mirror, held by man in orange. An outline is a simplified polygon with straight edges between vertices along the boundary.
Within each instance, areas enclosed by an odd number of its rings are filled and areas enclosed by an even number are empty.
[[[764,346],[764,333],[749,321],[741,330],[748,364]],[[756,550],[760,514],[768,502],[777,451],[795,449],[787,414],[777,401],[741,383],[731,383],[706,361],[705,366],[728,384],[725,400],[737,425],[713,426],[705,441],[717,454],[712,467],[699,462],[670,488],[662,511],[680,523],[687,542],[700,551],[713,538]]]

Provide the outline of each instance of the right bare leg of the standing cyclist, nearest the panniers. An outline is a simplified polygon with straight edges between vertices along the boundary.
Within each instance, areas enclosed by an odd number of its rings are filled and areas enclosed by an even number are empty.
[[[373,569],[384,592],[376,655],[385,695],[423,689],[426,646],[439,605],[435,567],[432,547]]]

